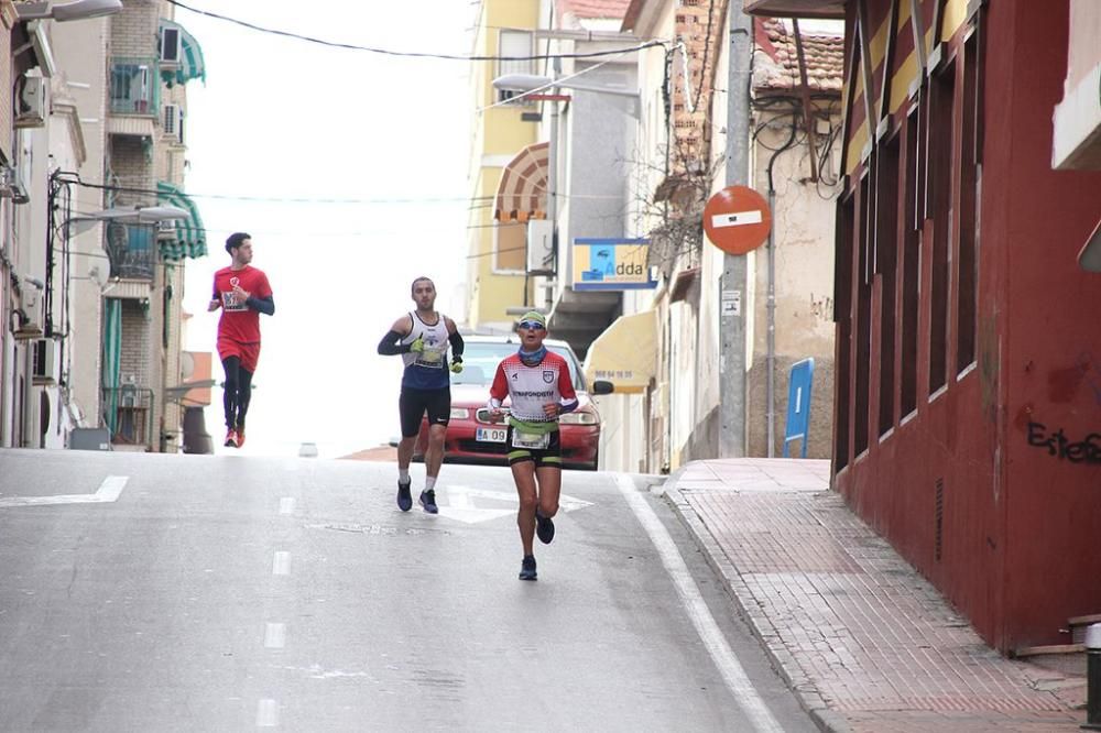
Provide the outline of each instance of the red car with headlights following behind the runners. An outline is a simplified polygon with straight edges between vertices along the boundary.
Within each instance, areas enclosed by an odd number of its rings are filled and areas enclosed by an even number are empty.
[[[462,372],[451,375],[451,417],[447,425],[444,460],[454,463],[491,463],[505,466],[508,448],[503,424],[490,423],[486,403],[497,365],[520,349],[520,339],[512,336],[464,336]],[[547,339],[544,346],[569,364],[569,375],[580,402],[578,408],[559,418],[562,460],[565,468],[597,470],[600,453],[600,414],[589,398],[585,376],[577,355],[565,341]],[[609,382],[592,384],[592,394],[608,394]],[[508,408],[508,401],[505,401]],[[428,422],[421,424],[421,435],[413,450],[414,460],[424,460],[428,446]]]

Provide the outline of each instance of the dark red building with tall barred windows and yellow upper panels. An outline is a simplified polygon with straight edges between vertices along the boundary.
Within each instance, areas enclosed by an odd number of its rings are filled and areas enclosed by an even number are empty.
[[[1097,84],[1069,113],[1101,78],[1095,9],[844,18],[835,485],[992,645],[1069,642],[1101,610]]]

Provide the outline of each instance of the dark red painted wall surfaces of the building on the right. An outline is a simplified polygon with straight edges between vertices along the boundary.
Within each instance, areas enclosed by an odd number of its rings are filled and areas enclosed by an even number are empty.
[[[1080,271],[1076,262],[1101,216],[1101,173],[1050,167],[1051,114],[1066,74],[1067,0],[999,0],[985,12],[977,364],[957,374],[953,297],[948,386],[930,401],[931,226],[926,222],[917,413],[902,423],[896,406],[895,427],[880,435],[880,315],[883,298],[898,296],[884,294],[877,276],[871,297],[869,449],[862,457],[851,455],[859,417],[853,366],[848,405],[837,407],[848,408],[853,419],[850,456],[839,461],[847,466],[836,486],[990,643],[1009,652],[1067,642],[1059,628],[1069,616],[1101,612],[1101,462],[1088,462],[1087,449],[1070,445],[1097,431],[1101,461],[1101,275]],[[957,127],[959,120],[957,105]],[[959,140],[951,157],[958,168]],[[952,182],[958,210],[955,174]],[[859,180],[852,188],[859,221]],[[953,247],[958,222],[955,227]],[[900,222],[900,238],[902,228]],[[861,262],[859,245],[852,249],[848,265],[855,303]],[[950,272],[951,292],[958,282],[955,250]],[[852,322],[855,336],[855,318]],[[848,350],[855,364],[855,341],[839,338],[839,358]]]

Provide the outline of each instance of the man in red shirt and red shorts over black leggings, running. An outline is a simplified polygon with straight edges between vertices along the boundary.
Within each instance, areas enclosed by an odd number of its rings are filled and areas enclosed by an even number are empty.
[[[260,314],[275,314],[268,275],[253,267],[252,237],[236,232],[226,240],[232,264],[214,274],[214,296],[208,311],[221,308],[218,321],[218,358],[226,368],[226,446],[244,445],[244,414],[252,396],[252,374],[260,359]]]

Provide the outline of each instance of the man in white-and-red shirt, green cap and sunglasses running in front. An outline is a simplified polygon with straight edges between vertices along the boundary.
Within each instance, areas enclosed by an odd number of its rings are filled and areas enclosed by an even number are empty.
[[[535,580],[533,539],[549,544],[554,539],[552,517],[558,513],[562,492],[562,440],[558,417],[577,408],[577,393],[569,365],[543,346],[547,321],[543,314],[528,311],[520,319],[520,351],[497,368],[490,386],[490,419],[501,422],[501,405],[509,397],[506,445],[509,466],[520,494],[520,541],[524,559],[521,580]]]

